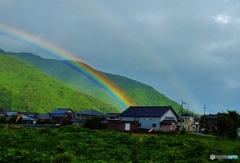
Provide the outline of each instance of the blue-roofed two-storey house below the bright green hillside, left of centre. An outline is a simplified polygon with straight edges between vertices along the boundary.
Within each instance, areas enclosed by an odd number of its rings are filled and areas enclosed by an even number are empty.
[[[70,108],[58,108],[49,113],[51,120],[55,124],[62,124],[63,122],[70,123],[74,117],[74,111]]]

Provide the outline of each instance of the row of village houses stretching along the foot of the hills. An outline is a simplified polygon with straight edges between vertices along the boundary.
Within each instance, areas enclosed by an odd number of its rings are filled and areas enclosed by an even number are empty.
[[[0,108],[1,125],[17,124],[30,128],[41,128],[46,125],[56,128],[62,125],[84,126],[87,119],[94,117],[100,118],[107,129],[117,131],[151,132],[181,128],[189,132],[199,132],[204,127],[198,117],[187,113],[178,115],[171,106],[130,106],[122,113],[102,113],[94,109],[75,112],[71,108],[57,108],[46,114],[14,112]],[[212,128],[216,119],[215,114],[207,115],[204,120],[206,127]]]

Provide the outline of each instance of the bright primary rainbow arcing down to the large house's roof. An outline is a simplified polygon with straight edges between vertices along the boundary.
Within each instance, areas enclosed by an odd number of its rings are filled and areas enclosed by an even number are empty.
[[[67,63],[70,67],[78,70],[90,80],[92,80],[95,84],[103,88],[123,107],[123,109],[135,105],[134,102],[129,99],[126,93],[110,79],[108,79],[106,76],[99,73],[98,71],[94,70],[90,66],[86,66],[84,64],[80,64],[80,62],[76,62],[79,60],[79,58],[75,57],[73,54],[62,49],[61,47],[42,40],[22,30],[5,25],[0,25],[0,34],[19,40],[23,43],[27,43],[31,46],[35,46],[41,50],[48,52],[52,57],[63,59],[65,63]]]

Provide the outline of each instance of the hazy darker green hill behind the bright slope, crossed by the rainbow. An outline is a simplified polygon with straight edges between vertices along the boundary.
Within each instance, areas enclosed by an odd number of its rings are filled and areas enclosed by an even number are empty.
[[[30,53],[5,53],[9,55],[17,56],[46,74],[61,80],[70,88],[93,96],[101,101],[104,101],[118,109],[123,109],[108,93],[106,93],[102,88],[97,86],[87,77],[85,77],[80,72],[69,67],[64,61],[44,59],[37,55]],[[84,64],[84,63],[82,63]],[[85,65],[85,64],[84,64]],[[96,70],[97,71],[97,70]],[[138,81],[109,73],[99,72],[107,76],[109,79],[114,81],[121,89],[123,89],[126,94],[133,100],[137,105],[171,105],[174,110],[178,113],[180,105],[166,97],[165,95],[159,93],[154,88],[140,83]]]

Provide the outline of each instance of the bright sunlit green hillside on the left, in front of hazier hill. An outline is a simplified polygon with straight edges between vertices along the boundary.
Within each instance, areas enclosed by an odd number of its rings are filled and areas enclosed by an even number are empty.
[[[49,112],[56,108],[75,111],[96,109],[116,112],[115,107],[67,87],[14,56],[0,55],[0,106],[16,111]]]

